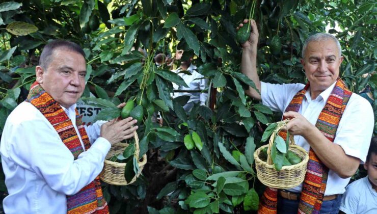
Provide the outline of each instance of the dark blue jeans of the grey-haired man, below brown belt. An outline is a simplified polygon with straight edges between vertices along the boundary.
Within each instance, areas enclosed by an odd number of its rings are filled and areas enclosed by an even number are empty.
[[[339,212],[340,203],[342,201],[342,195],[337,195],[333,200],[322,201],[322,206],[319,211],[321,214],[337,214]],[[278,214],[297,214],[299,209],[298,200],[289,200],[278,195]]]

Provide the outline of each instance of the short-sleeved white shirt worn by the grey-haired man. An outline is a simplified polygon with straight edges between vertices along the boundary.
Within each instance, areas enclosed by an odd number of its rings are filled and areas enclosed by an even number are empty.
[[[273,111],[284,112],[293,96],[304,89],[303,84],[269,84],[261,83],[261,96],[264,105]],[[299,113],[311,124],[315,125],[318,116],[324,108],[335,83],[312,100],[310,88],[306,91]],[[363,97],[353,93],[349,98],[336,131],[334,143],[340,145],[347,155],[357,157],[361,163],[365,162],[374,127],[374,115],[370,103]],[[309,151],[309,143],[302,136],[294,136],[295,144]],[[351,178],[341,178],[334,171],[329,171],[325,196],[343,194],[345,186]],[[302,184],[290,189],[301,192]]]

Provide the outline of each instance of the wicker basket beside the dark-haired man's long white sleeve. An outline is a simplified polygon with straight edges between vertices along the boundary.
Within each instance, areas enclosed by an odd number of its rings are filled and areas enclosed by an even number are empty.
[[[102,169],[102,172],[99,174],[99,178],[109,184],[113,185],[128,185],[130,183],[133,183],[136,181],[136,179],[139,177],[141,174],[144,165],[147,163],[147,155],[144,154],[142,161],[139,160],[139,138],[138,134],[136,131],[134,132],[134,140],[135,140],[135,156],[138,159],[138,164],[139,164],[139,172],[137,175],[135,175],[132,180],[128,183],[124,177],[124,170],[126,167],[126,163],[117,163],[117,162],[112,162],[109,161],[111,157],[114,155],[123,153],[124,149],[128,146],[127,143],[117,143],[114,144],[109,153],[107,153],[104,161],[104,166]]]

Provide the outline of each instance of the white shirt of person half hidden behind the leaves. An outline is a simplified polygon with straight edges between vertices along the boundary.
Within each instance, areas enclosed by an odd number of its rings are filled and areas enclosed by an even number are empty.
[[[181,69],[178,68],[176,70],[173,70],[173,72],[177,73],[187,86],[178,86],[177,84],[173,83],[173,88],[175,90],[204,90],[206,87],[208,87],[208,79],[204,78],[204,76],[196,71],[196,66],[191,64],[189,68],[187,68],[187,71],[191,73],[191,75],[185,74],[185,73],[179,73]],[[183,95],[189,95],[190,100],[183,106],[183,109],[188,112],[190,111],[194,103],[200,102],[200,105],[205,105],[205,102],[208,97],[208,93],[200,93],[200,92],[175,92],[172,94],[172,97],[179,97]]]

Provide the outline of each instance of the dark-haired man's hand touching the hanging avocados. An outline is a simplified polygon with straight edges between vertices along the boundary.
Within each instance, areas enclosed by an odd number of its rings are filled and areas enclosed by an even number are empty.
[[[138,126],[132,126],[137,122],[137,120],[132,120],[131,117],[123,120],[111,120],[101,126],[100,137],[108,140],[112,145],[129,139],[134,135],[133,131],[139,128]]]

